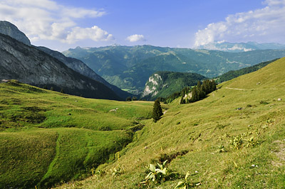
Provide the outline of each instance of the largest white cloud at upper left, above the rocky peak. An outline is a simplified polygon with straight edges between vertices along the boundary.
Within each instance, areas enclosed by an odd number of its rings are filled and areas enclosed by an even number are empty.
[[[78,27],[80,18],[97,18],[103,10],[68,7],[51,0],[0,0],[1,20],[14,23],[31,41],[57,40],[74,43],[78,40],[108,41],[111,34],[98,26]]]

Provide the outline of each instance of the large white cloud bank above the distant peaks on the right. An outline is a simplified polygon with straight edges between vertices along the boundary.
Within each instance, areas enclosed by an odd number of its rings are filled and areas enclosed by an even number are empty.
[[[281,42],[285,30],[285,0],[266,0],[265,7],[227,16],[195,33],[195,46],[214,41]],[[284,39],[283,39],[284,40]]]

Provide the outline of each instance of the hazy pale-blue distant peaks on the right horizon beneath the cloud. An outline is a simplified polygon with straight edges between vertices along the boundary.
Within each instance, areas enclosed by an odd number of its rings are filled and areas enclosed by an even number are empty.
[[[280,43],[257,43],[250,41],[247,43],[229,43],[226,41],[214,41],[205,45],[199,45],[196,49],[221,50],[231,53],[247,52],[251,50],[266,50],[266,49],[285,49],[284,44]]]

